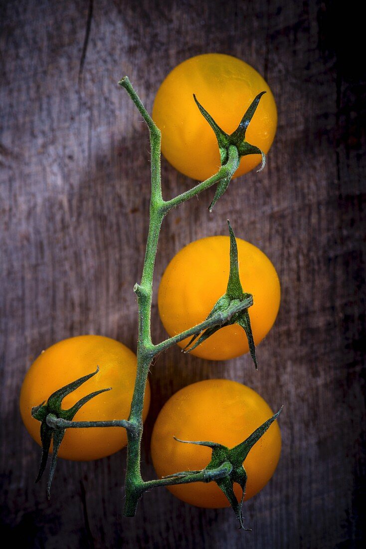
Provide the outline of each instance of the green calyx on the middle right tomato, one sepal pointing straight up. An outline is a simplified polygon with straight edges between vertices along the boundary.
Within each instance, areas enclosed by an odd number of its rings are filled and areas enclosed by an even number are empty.
[[[248,308],[251,305],[253,305],[253,296],[251,294],[243,292],[243,288],[241,287],[241,282],[239,277],[237,240],[235,239],[235,235],[229,220],[228,220],[228,226],[229,226],[229,235],[230,235],[230,273],[229,273],[227,290],[226,290],[226,293],[216,302],[215,306],[213,307],[209,316],[207,316],[206,320],[208,320],[213,316],[216,316],[217,313],[219,312],[221,313],[227,312],[229,309],[232,309],[233,306],[238,305],[244,300],[248,302],[248,305],[245,309],[235,313],[229,320],[223,322],[220,326],[213,326],[211,328],[207,328],[205,330],[202,330],[202,332],[194,335],[193,338],[189,341],[189,343],[185,346],[183,350],[184,352],[193,351],[193,349],[195,349],[198,345],[203,343],[206,339],[208,339],[212,334],[217,332],[217,330],[219,330],[220,328],[223,328],[224,326],[230,326],[230,324],[239,324],[239,326],[241,326],[244,329],[244,332],[246,334],[246,338],[249,344],[250,356],[252,357],[254,365],[257,369],[258,366],[257,366],[256,352],[255,352],[255,344],[254,344],[254,339],[253,339],[253,334],[252,334],[252,329],[250,324],[250,317],[248,312]]]

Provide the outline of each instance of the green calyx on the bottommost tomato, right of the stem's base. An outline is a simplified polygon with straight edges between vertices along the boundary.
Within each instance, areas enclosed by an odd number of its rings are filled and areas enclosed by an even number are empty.
[[[233,508],[235,515],[237,516],[240,524],[240,528],[244,528],[243,524],[243,501],[245,496],[246,480],[247,475],[244,468],[244,461],[246,456],[249,454],[252,447],[256,442],[266,433],[270,425],[278,418],[279,414],[282,411],[283,406],[280,410],[274,414],[271,418],[267,419],[260,427],[258,427],[254,433],[248,436],[243,442],[240,442],[237,446],[233,448],[228,448],[217,442],[207,442],[207,441],[193,441],[193,440],[176,440],[178,442],[185,442],[187,444],[198,444],[200,446],[208,446],[212,450],[211,461],[203,469],[204,471],[218,470],[219,468],[225,467],[227,470],[226,475],[222,478],[215,479],[218,487],[224,492],[230,506]],[[211,479],[213,480],[213,479]],[[234,492],[234,483],[239,484],[241,488],[241,498],[238,501],[237,496]],[[250,528],[244,528],[245,530],[250,530]]]

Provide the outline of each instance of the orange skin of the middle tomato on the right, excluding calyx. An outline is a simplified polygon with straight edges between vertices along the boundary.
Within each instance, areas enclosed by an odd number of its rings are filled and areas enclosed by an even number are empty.
[[[277,272],[263,252],[237,238],[240,281],[244,292],[253,295],[249,308],[256,345],[271,329],[280,303]],[[169,335],[176,335],[203,322],[217,300],[226,292],[229,278],[230,239],[201,238],[182,248],[162,276],[157,303]],[[187,345],[185,339],[179,346]],[[221,328],[192,354],[208,360],[228,360],[249,351],[243,328],[238,324]]]

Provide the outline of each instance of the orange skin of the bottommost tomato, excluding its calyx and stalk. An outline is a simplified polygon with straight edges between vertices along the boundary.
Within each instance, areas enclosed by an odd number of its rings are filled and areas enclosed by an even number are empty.
[[[164,477],[185,470],[199,470],[211,461],[206,446],[174,440],[207,440],[233,447],[242,442],[273,411],[258,393],[228,379],[207,379],[175,393],[157,416],[151,438],[151,456],[156,473]],[[245,500],[257,494],[271,479],[281,451],[277,421],[252,447],[244,462],[247,473]],[[198,507],[228,507],[229,502],[215,482],[167,486],[180,500]],[[237,497],[241,490],[234,486]]]

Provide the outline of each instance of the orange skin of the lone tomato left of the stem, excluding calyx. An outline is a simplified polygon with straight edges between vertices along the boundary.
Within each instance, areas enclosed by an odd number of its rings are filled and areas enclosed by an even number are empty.
[[[111,387],[89,400],[76,413],[74,421],[127,419],[136,378],[136,355],[125,345],[102,335],[79,335],[50,346],[27,371],[20,392],[20,412],[32,438],[41,445],[40,422],[31,417],[33,406],[47,401],[62,386],[95,371],[99,372],[71,394],[62,407],[70,408],[81,397]],[[143,418],[150,405],[147,384]],[[126,429],[100,427],[66,429],[58,456],[67,460],[89,461],[109,456],[127,444]],[[51,447],[52,448],[52,447]]]

